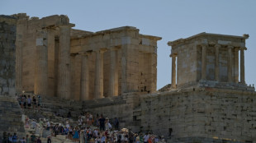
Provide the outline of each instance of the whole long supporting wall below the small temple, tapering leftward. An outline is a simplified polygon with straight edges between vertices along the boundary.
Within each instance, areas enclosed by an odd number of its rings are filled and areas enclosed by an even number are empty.
[[[83,102],[83,111],[117,117],[121,127],[169,142],[253,142],[255,104],[255,91],[197,88],[95,99]]]

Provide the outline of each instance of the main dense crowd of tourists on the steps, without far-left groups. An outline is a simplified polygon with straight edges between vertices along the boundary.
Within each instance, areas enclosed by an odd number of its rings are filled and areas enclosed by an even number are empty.
[[[70,114],[70,113],[69,113]],[[39,124],[43,124],[40,120]],[[45,130],[51,131],[51,136],[63,135],[69,140],[80,143],[160,143],[165,142],[164,136],[153,134],[134,133],[126,128],[120,129],[118,118],[110,122],[103,115],[84,113],[78,117],[75,126],[71,126],[69,119],[64,123],[45,122]]]

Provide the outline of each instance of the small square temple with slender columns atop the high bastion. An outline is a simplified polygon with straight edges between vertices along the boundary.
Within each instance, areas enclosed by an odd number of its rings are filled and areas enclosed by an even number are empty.
[[[248,38],[249,35],[201,33],[168,42],[172,46],[172,87],[244,86],[244,50]]]

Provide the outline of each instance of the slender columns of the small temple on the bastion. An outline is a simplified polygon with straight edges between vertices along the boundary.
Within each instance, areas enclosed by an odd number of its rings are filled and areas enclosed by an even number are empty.
[[[215,81],[220,81],[220,65],[219,54],[220,44],[216,44],[215,48]],[[201,81],[206,81],[206,49],[208,44],[201,44]],[[245,84],[244,80],[244,50],[245,47],[234,47],[228,45],[227,47],[227,82],[239,83],[239,50],[240,50],[240,83]],[[234,58],[232,55],[234,51]],[[172,53],[172,88],[176,88],[176,58],[177,53]],[[233,61],[234,60],[234,61]],[[233,73],[234,69],[234,73]],[[234,75],[234,76],[233,76]]]

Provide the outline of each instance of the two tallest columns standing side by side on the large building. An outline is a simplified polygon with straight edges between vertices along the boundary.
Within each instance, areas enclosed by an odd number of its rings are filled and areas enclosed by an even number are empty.
[[[57,96],[70,97],[70,30],[73,25],[59,25]],[[48,40],[52,31],[47,27],[36,31],[36,68],[34,93],[47,95],[48,90]],[[50,37],[53,38],[53,37]]]

